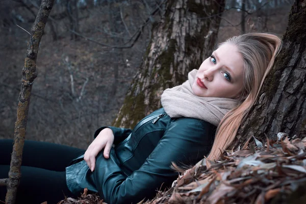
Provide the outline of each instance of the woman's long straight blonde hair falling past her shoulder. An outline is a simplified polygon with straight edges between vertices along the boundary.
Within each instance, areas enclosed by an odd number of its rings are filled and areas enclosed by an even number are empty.
[[[219,159],[221,151],[223,152],[234,141],[240,124],[255,103],[275,57],[282,47],[282,40],[269,33],[247,33],[234,36],[223,43],[236,45],[243,58],[243,90],[238,98],[239,105],[225,114],[217,127],[209,160]]]

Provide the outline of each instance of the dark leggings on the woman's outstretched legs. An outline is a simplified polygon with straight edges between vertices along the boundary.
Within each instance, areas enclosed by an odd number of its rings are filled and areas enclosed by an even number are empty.
[[[8,177],[13,140],[0,140],[0,179]],[[22,155],[21,179],[16,203],[58,203],[75,197],[66,185],[67,167],[71,160],[85,150],[60,144],[25,141]],[[0,203],[5,201],[6,186],[0,186]]]

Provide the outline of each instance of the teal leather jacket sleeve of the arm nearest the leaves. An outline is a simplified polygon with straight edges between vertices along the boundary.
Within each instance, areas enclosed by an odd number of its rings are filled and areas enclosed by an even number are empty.
[[[115,150],[110,158],[99,154],[94,181],[101,198],[109,204],[137,203],[143,198],[153,198],[156,190],[171,184],[177,178],[177,172],[171,168],[171,162],[193,164],[207,155],[214,138],[213,125],[193,118],[179,118],[168,124],[167,130],[156,148],[143,165],[130,176],[126,176],[119,167]]]

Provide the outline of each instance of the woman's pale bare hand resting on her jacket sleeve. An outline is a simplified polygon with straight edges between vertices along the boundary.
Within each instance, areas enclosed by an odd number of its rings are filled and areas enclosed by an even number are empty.
[[[109,158],[112,145],[114,143],[114,134],[110,128],[103,129],[93,142],[88,146],[84,154],[84,160],[93,171],[95,168],[95,158],[98,153],[104,148],[103,155],[106,159]]]

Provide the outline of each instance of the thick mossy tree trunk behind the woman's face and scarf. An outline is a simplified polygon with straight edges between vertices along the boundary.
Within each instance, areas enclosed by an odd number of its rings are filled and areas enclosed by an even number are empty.
[[[145,115],[161,107],[163,90],[187,80],[213,50],[224,0],[167,1],[115,126],[134,127]]]

